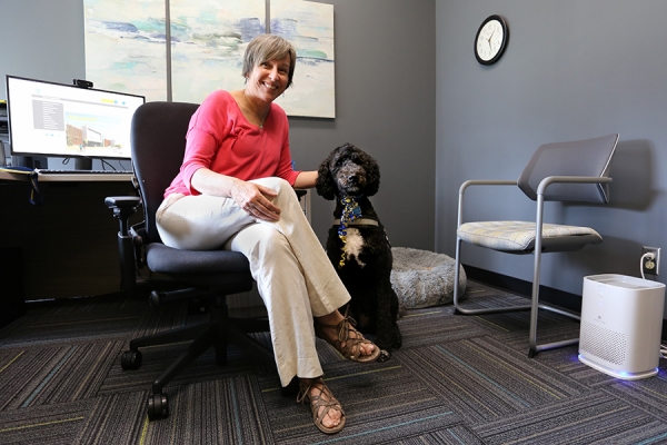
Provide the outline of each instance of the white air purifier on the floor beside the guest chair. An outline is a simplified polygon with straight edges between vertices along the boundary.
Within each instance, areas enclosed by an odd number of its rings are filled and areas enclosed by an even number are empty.
[[[613,377],[658,373],[665,285],[625,275],[584,277],[579,360]]]

